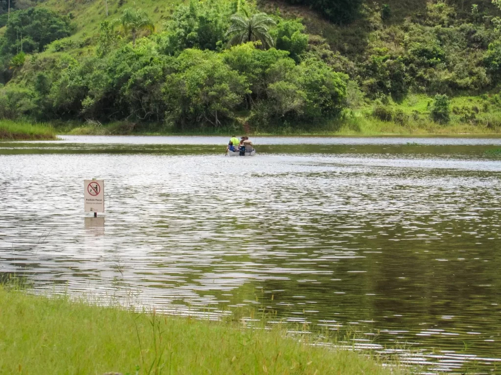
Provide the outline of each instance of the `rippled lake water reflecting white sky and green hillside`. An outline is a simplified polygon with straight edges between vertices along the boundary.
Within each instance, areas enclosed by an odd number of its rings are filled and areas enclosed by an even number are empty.
[[[0,278],[265,308],[423,373],[501,373],[501,138],[258,137],[255,157],[224,157],[227,137],[63,138],[0,143]]]

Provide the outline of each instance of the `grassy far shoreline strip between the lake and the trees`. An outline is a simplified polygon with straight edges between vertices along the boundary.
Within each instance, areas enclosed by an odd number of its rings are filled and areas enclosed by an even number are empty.
[[[299,126],[299,125],[298,125]],[[501,137],[501,127],[471,126],[460,123],[438,125],[403,126],[395,122],[377,119],[351,122],[333,122],[311,130],[277,129],[277,131],[248,131],[241,128],[220,128],[209,130],[181,130],[165,128],[160,124],[144,123],[131,128],[123,123],[109,123],[88,126],[78,122],[32,123],[12,120],[0,120],[0,141],[57,140],[64,136],[221,136],[245,134],[254,137]]]

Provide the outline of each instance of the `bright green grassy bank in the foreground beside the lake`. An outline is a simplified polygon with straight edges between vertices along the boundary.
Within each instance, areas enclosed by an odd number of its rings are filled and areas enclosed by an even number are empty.
[[[242,328],[47,298],[0,286],[0,372],[397,374],[374,358]]]

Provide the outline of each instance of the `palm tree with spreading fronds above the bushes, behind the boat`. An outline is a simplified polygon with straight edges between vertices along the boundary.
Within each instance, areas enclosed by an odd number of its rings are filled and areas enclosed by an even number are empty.
[[[243,12],[245,15],[233,14],[230,17],[231,26],[227,35],[233,36],[228,42],[229,45],[261,40],[263,48],[273,47],[273,38],[268,29],[276,25],[276,22],[266,13],[256,13],[249,17],[246,10]]]

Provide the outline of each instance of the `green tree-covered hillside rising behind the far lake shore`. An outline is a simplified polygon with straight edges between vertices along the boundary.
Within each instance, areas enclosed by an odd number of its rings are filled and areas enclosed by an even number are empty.
[[[0,0],[0,118],[501,124],[501,0]]]

